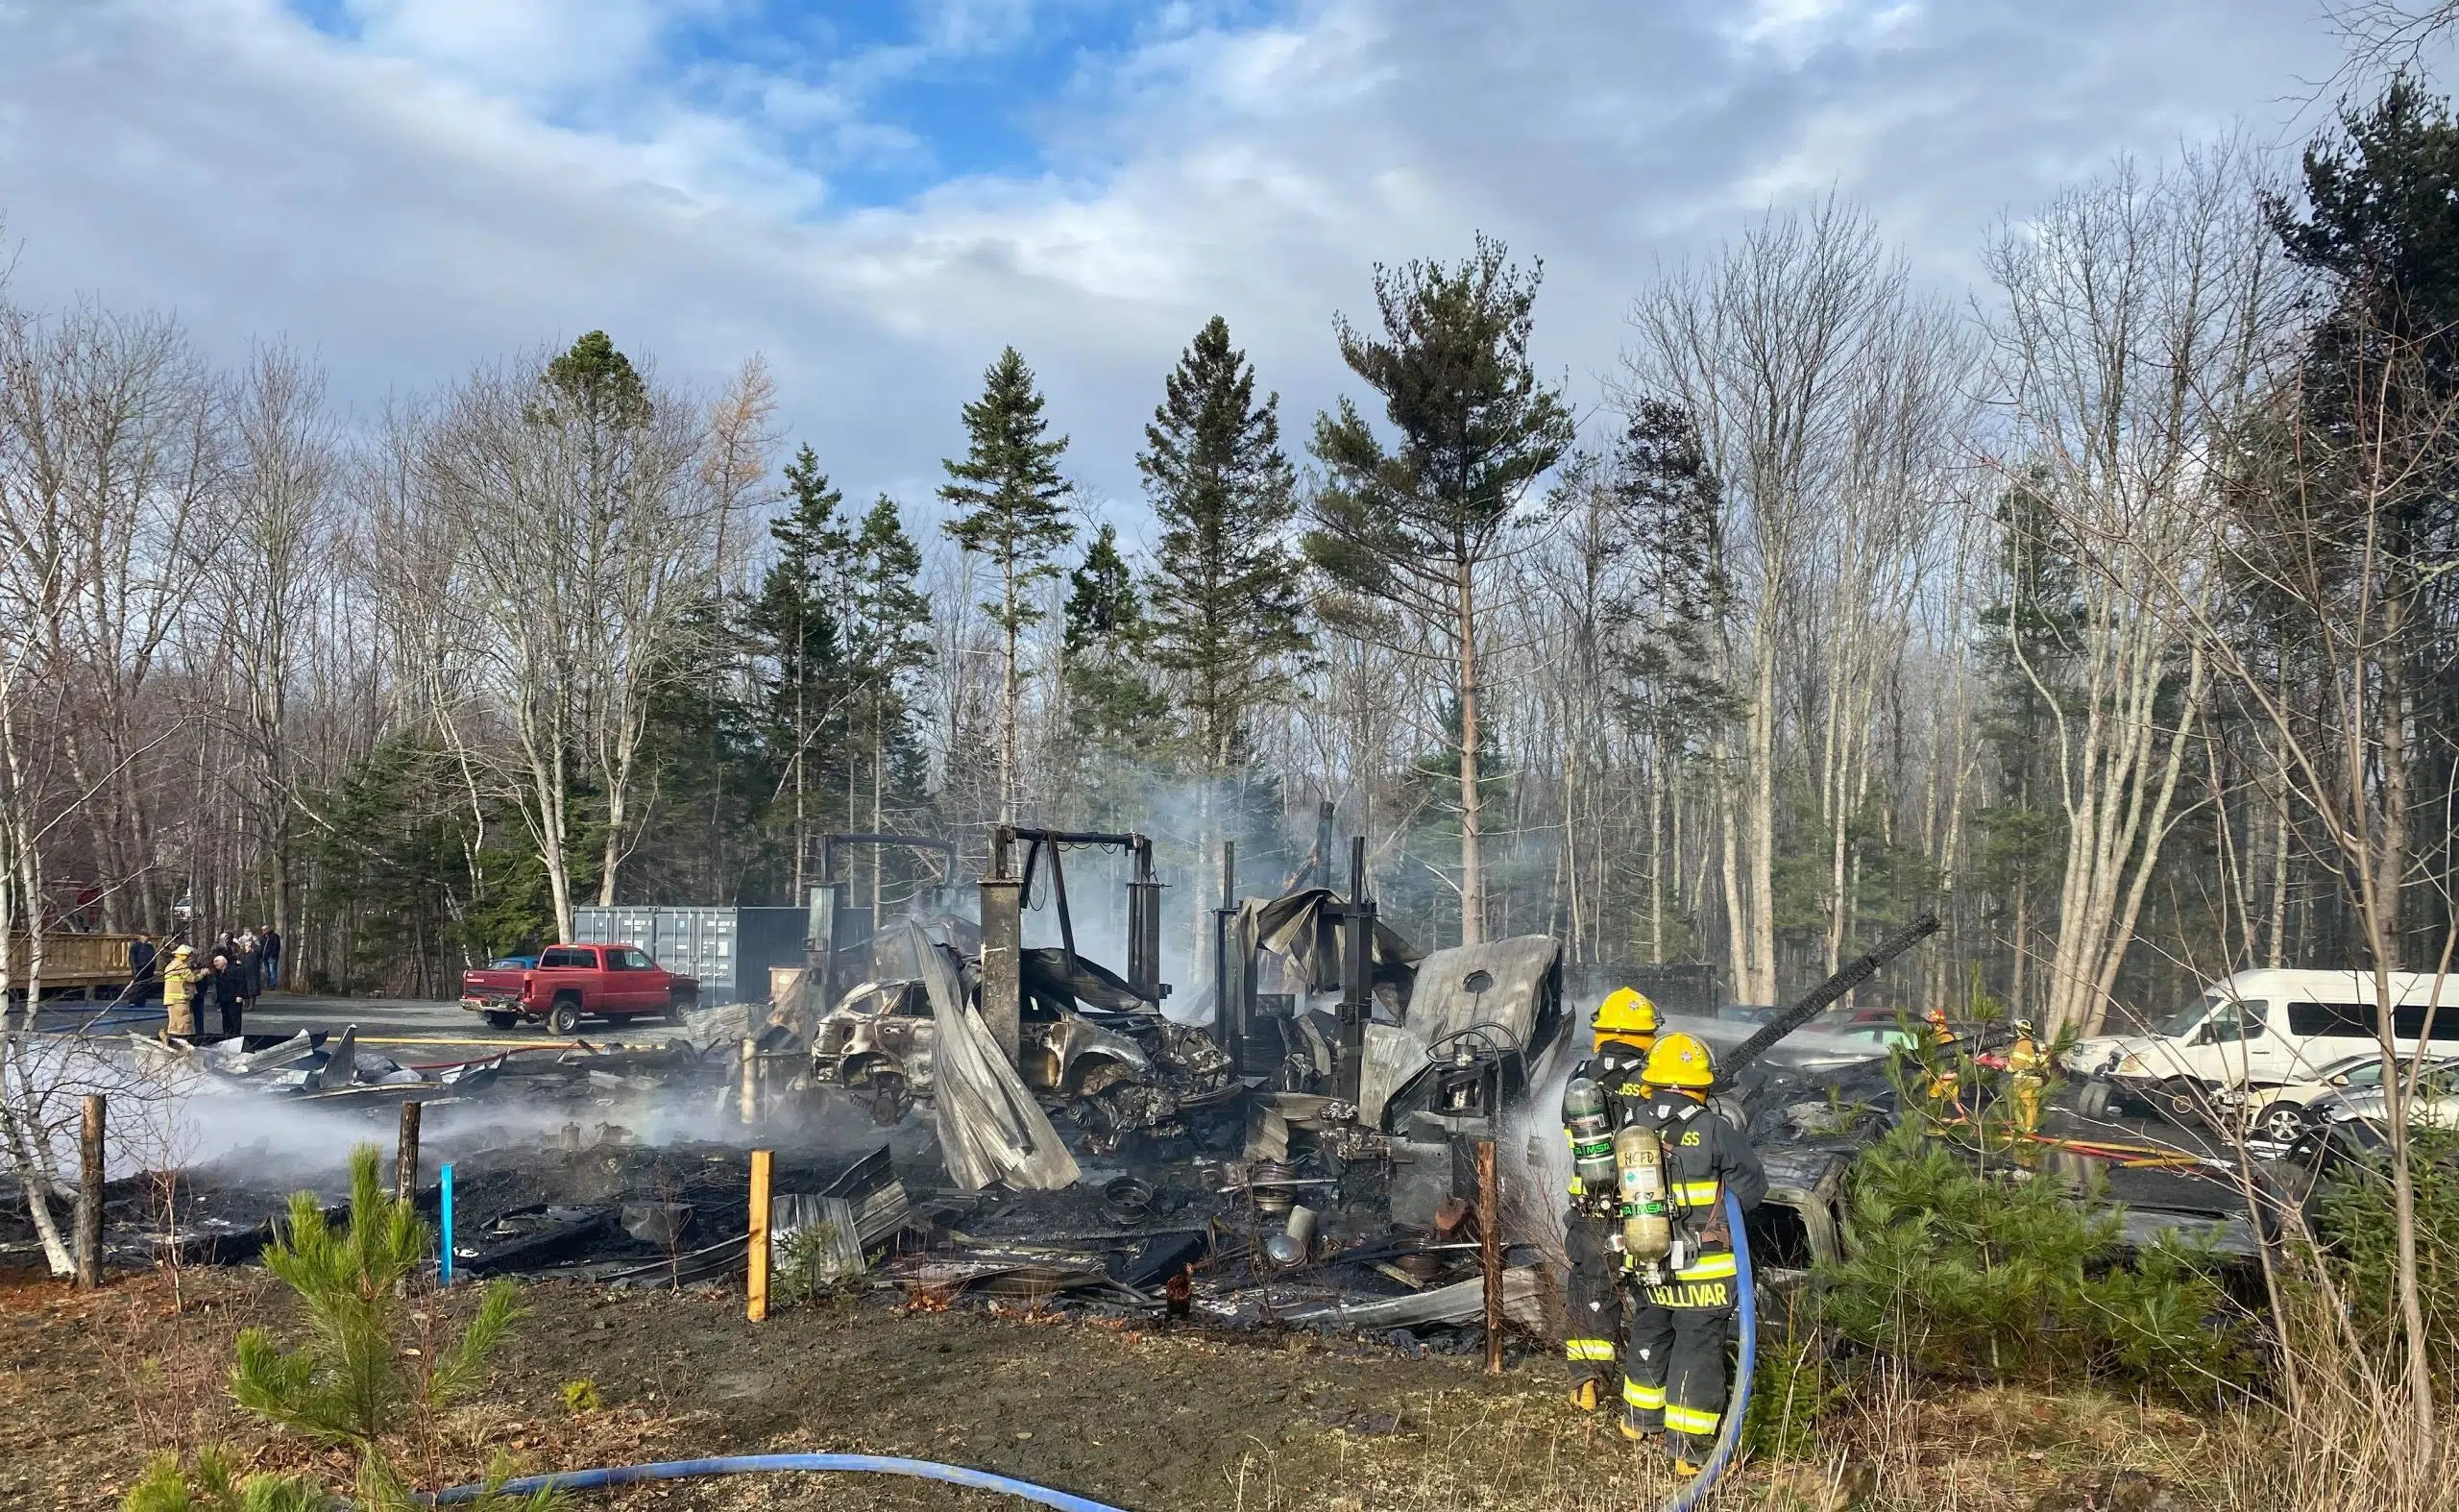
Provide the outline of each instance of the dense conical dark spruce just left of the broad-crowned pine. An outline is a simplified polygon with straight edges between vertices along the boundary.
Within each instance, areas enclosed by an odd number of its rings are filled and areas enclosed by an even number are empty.
[[[1183,679],[1195,765],[1222,779],[1244,755],[1252,713],[1289,693],[1289,661],[1311,639],[1284,541],[1298,494],[1281,396],[1254,403],[1254,366],[1220,315],[1163,379],[1136,467],[1161,521],[1153,664]]]

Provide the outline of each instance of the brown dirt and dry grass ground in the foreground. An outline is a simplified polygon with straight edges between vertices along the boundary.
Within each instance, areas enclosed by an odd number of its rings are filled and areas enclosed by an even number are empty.
[[[221,1443],[248,1465],[344,1460],[229,1404],[231,1340],[288,1335],[295,1313],[258,1269],[116,1278],[81,1298],[0,1276],[0,1507],[116,1507],[150,1453]],[[1611,1416],[1561,1399],[1561,1367],[1407,1357],[1311,1335],[1215,1335],[888,1298],[797,1308],[752,1325],[740,1296],[531,1286],[529,1315],[430,1482],[489,1455],[583,1468],[713,1453],[853,1451],[979,1465],[1136,1512],[1630,1512],[1672,1490]],[[460,1296],[450,1305],[465,1308]],[[588,1389],[580,1387],[588,1382]],[[568,1399],[578,1399],[575,1409]],[[1871,1392],[1793,1463],[1729,1478],[1719,1507],[1834,1510],[2085,1505],[2080,1475],[2129,1465],[2193,1492],[2208,1426],[2105,1396]],[[2061,1482],[2068,1492],[2058,1492]],[[2061,1495],[2066,1500],[2061,1500]],[[880,1475],[642,1485],[580,1497],[612,1510],[969,1512],[1018,1507]]]

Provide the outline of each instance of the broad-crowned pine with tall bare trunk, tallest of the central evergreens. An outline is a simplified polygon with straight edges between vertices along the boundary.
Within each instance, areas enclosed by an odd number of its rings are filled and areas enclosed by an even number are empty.
[[[1507,258],[1500,241],[1478,236],[1458,268],[1419,261],[1375,270],[1382,332],[1340,320],[1340,356],[1382,396],[1399,438],[1384,445],[1348,398],[1338,415],[1318,415],[1316,457],[1330,479],[1306,536],[1306,556],[1343,590],[1448,642],[1463,944],[1485,939],[1478,588],[1515,526],[1527,524],[1527,489],[1576,433],[1561,391],[1542,384],[1529,361],[1544,266],[1522,273]]]

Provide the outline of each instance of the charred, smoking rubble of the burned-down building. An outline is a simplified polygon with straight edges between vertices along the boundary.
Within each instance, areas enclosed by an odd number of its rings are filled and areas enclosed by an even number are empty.
[[[130,1038],[128,1055],[246,1099],[221,1106],[312,1116],[325,1153],[381,1141],[418,1101],[430,1156],[455,1163],[467,1276],[733,1283],[757,1143],[775,1151],[767,1244],[789,1293],[861,1283],[917,1305],[981,1293],[1456,1347],[1490,1318],[1544,1330],[1566,1175],[1554,1104],[1586,1040],[1557,939],[1426,951],[1379,917],[1362,843],[1345,890],[1311,865],[1276,897],[1239,897],[1225,848],[1210,981],[1173,1015],[1146,836],[1003,829],[974,910],[947,885],[944,841],[829,838],[802,959],[770,974],[767,1001],[703,1008],[647,1045],[403,1062],[339,1028]],[[885,917],[834,878],[853,846],[947,865]],[[1126,863],[1124,971],[1080,949],[1067,856],[1084,848]],[[1028,919],[1055,942],[1028,947]],[[1766,1025],[1667,1015],[1739,1067],[1714,1106],[1768,1168],[1748,1224],[1775,1283],[1842,1254],[1852,1163],[1906,1116],[1886,1050],[1822,1020],[1879,964]],[[2211,1170],[2053,1156],[2043,1175],[2061,1160],[2107,1183],[2129,1234],[2250,1244]],[[120,1261],[246,1261],[283,1195],[317,1178],[243,1151],[172,1185],[113,1183]],[[418,1195],[443,1197],[433,1178]]]

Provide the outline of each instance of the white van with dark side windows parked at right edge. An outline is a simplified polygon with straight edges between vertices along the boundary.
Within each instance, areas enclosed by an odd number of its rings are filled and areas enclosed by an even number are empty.
[[[2437,1050],[2459,1052],[2459,974],[2444,978],[2432,1023],[2432,971],[2393,971],[2390,991],[2402,1055],[2427,1033]],[[2336,1060],[2375,1050],[2378,1025],[2370,971],[2238,971],[2152,1033],[2078,1040],[2066,1069],[2105,1077],[2166,1114],[2191,1114],[2206,1099],[2311,1079]]]

